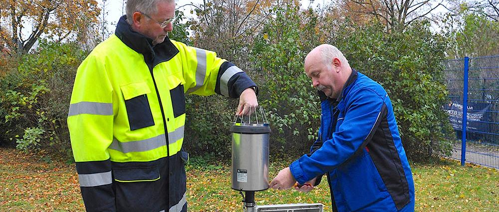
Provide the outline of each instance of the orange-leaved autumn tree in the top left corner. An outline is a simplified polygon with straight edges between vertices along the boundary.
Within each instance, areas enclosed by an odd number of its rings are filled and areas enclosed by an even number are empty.
[[[99,13],[96,0],[2,0],[0,44],[25,53],[42,36],[84,43]]]

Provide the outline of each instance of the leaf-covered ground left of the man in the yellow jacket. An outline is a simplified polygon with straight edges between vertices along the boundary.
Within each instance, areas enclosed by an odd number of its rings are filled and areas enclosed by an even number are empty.
[[[0,149],[0,211],[84,211],[72,165]]]

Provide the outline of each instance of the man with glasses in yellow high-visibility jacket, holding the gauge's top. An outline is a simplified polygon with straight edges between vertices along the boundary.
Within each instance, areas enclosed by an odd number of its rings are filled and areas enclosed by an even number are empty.
[[[87,211],[186,212],[185,93],[258,104],[240,68],[168,39],[174,16],[174,0],[128,0],[78,68],[67,122]]]

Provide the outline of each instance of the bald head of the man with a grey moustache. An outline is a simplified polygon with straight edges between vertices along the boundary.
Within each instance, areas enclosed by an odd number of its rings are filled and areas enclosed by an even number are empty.
[[[312,79],[313,87],[330,98],[337,98],[352,69],[338,48],[322,44],[305,57],[305,73]]]

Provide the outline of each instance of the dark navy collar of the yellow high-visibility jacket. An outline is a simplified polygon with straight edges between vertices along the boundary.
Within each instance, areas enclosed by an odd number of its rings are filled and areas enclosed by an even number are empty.
[[[138,53],[144,54],[144,60],[150,68],[151,65],[154,67],[162,61],[172,59],[179,53],[179,50],[170,41],[168,36],[165,38],[165,41],[153,46],[151,38],[132,29],[132,26],[126,21],[126,15],[121,16],[114,33],[125,45]]]

